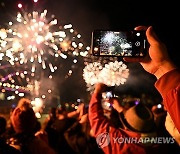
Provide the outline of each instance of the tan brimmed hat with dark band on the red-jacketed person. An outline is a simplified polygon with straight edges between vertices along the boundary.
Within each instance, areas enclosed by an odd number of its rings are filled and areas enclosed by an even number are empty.
[[[120,120],[129,130],[148,133],[155,130],[154,117],[151,110],[139,103],[120,113]]]

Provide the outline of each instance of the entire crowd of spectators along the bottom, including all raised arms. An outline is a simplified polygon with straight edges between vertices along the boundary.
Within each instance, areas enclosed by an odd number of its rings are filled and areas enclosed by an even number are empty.
[[[136,30],[146,30],[148,55],[124,60],[140,62],[157,78],[162,102],[149,106],[141,100],[106,98],[109,87],[97,83],[90,102],[73,111],[53,107],[39,122],[30,100],[22,98],[8,120],[0,116],[0,154],[179,154],[179,68],[151,26]]]

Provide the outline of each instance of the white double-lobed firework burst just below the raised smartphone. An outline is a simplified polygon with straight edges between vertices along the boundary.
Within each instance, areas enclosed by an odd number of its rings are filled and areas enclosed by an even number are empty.
[[[129,76],[129,69],[122,62],[109,62],[102,66],[99,62],[89,63],[83,69],[83,78],[87,85],[87,91],[92,91],[98,82],[108,86],[124,84]]]

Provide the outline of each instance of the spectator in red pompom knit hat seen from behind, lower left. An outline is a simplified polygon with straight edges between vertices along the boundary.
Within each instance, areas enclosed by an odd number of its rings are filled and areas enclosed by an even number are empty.
[[[22,154],[55,154],[55,151],[35,136],[37,119],[33,109],[27,104],[16,107],[11,115],[16,134],[9,139],[11,146]]]

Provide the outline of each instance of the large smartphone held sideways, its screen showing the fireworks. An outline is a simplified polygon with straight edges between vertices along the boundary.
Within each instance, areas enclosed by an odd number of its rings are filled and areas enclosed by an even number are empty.
[[[94,30],[91,50],[94,56],[143,57],[148,41],[145,31]]]

